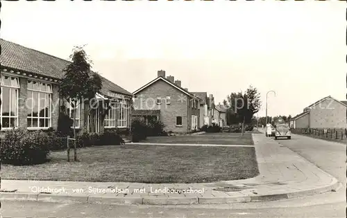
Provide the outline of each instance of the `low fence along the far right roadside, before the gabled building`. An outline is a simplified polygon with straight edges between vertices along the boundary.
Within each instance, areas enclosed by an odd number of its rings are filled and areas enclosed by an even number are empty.
[[[295,128],[291,129],[294,134],[309,135],[314,138],[325,138],[330,140],[344,140],[347,138],[347,129],[312,129]]]

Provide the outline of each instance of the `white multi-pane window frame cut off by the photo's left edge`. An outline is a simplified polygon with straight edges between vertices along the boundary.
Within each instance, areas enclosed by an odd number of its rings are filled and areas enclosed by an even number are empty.
[[[5,84],[3,82],[3,77],[7,77],[7,78],[10,78],[10,85],[8,84]],[[12,78],[14,78],[16,80],[16,85],[17,86],[13,86],[12,85]],[[20,81],[19,81],[19,78],[17,77],[14,77],[12,75],[6,75],[6,74],[1,74],[0,75],[0,89],[1,89],[1,100],[3,101],[3,87],[5,88],[8,88],[9,89],[9,100],[10,102],[8,102],[8,107],[9,107],[9,113],[8,113],[8,116],[3,116],[3,103],[1,104],[1,107],[0,107],[0,121],[1,121],[1,124],[3,124],[3,118],[8,118],[8,127],[2,127],[1,130],[6,130],[6,129],[12,129],[13,127],[11,127],[11,118],[14,118],[15,119],[15,129],[18,128],[18,125],[19,125],[19,89],[20,89]],[[12,91],[15,91],[15,115],[12,116],[11,115],[11,107],[13,106],[12,105]],[[17,113],[17,115],[16,115]]]

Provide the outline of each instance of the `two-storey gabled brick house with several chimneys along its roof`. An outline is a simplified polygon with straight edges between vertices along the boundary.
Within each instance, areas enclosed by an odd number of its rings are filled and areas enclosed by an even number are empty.
[[[165,131],[188,133],[200,127],[200,105],[198,98],[188,89],[181,87],[174,76],[165,77],[165,71],[143,87],[133,92],[133,116],[146,120],[158,118]]]

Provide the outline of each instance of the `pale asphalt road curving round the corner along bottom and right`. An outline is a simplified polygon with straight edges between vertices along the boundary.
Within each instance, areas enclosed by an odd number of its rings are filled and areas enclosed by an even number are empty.
[[[346,187],[346,145],[306,136],[278,140]],[[346,217],[346,192],[300,199],[210,206],[106,206],[2,201],[3,217]]]

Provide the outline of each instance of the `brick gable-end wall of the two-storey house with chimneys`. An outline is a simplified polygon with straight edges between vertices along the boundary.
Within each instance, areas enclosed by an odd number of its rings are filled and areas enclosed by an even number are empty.
[[[181,95],[183,95],[182,101],[180,98]],[[160,109],[160,120],[165,125],[165,131],[187,132],[190,127],[188,114],[189,99],[187,99],[187,96],[183,92],[167,84],[167,82],[158,80],[158,82],[155,82],[150,87],[137,93],[136,96],[134,109]],[[166,96],[171,97],[170,105],[166,105]],[[162,105],[156,104],[157,97],[162,98]],[[176,116],[182,116],[182,127],[176,126]]]

